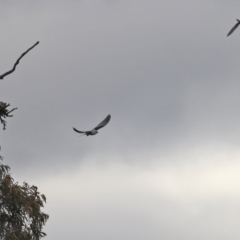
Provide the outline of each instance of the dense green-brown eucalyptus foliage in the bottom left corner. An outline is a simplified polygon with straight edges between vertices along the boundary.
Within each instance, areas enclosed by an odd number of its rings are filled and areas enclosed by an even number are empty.
[[[46,197],[36,186],[20,186],[9,174],[9,166],[0,164],[0,239],[38,240],[48,215],[41,211]]]

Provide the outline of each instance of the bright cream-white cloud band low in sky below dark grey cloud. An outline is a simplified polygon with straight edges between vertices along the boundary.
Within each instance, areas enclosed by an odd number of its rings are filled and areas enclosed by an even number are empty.
[[[185,151],[190,163],[171,167],[161,164],[161,159],[146,168],[88,161],[71,174],[40,180],[39,186],[50,196],[46,208],[53,216],[46,228],[49,238],[191,239],[196,233],[197,239],[236,238],[239,152],[229,150],[209,150],[204,161],[193,159],[201,150],[187,155]],[[71,224],[59,229],[66,218]]]

